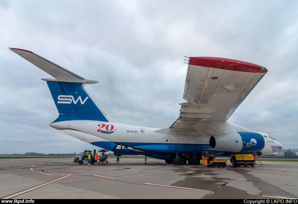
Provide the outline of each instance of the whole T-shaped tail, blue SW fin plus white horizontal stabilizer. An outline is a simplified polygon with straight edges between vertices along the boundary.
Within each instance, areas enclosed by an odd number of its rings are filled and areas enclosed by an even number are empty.
[[[98,81],[83,78],[28,50],[17,48],[10,48],[10,50],[53,76],[53,78],[42,80],[47,82],[59,112],[59,117],[54,122],[65,120],[108,122],[103,112],[84,89],[85,84],[95,84]]]

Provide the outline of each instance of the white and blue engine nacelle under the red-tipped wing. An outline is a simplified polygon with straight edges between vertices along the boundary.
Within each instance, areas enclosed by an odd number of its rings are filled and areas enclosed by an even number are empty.
[[[230,132],[212,136],[212,148],[228,152],[257,152],[264,148],[264,137],[256,132]]]

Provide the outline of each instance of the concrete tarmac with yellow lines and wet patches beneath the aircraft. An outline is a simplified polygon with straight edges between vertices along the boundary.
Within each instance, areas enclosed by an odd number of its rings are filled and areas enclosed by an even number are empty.
[[[278,199],[298,198],[298,162],[255,167],[177,166],[164,160],[108,158],[80,165],[72,158],[0,159],[4,199]]]

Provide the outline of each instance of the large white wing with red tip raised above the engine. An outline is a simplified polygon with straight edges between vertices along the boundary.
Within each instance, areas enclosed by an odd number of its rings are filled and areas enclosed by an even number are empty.
[[[249,62],[190,57],[180,117],[172,129],[193,128],[198,121],[226,121],[268,70]]]

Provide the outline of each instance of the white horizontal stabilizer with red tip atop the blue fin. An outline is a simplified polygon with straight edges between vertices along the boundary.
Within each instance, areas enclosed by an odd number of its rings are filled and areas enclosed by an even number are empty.
[[[94,79],[85,79],[31,51],[18,49],[18,48],[9,48],[9,49],[53,77],[53,78],[43,78],[42,80],[44,81],[66,81],[66,82],[78,82],[78,83],[84,83],[84,84],[95,84],[98,82]]]

